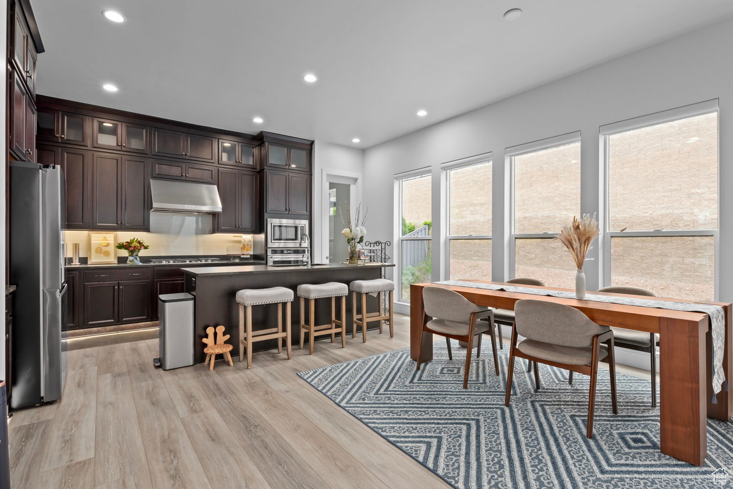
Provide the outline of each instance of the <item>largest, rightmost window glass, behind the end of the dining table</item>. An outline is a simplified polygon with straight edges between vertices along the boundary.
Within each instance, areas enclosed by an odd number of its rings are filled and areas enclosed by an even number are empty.
[[[718,111],[706,103],[687,109],[698,113],[606,133],[604,282],[712,301]]]

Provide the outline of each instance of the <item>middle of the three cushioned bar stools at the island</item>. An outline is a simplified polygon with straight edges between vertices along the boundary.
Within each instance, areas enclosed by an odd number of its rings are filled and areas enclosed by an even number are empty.
[[[301,284],[298,285],[298,297],[301,298],[301,350],[306,331],[309,333],[308,350],[313,354],[313,342],[315,337],[323,334],[331,334],[331,343],[336,339],[336,333],[341,333],[341,348],[346,348],[346,295],[349,287],[339,282],[327,282],[325,284]],[[331,298],[331,323],[316,326],[315,323],[315,302],[320,298]],[[336,320],[336,297],[341,297],[341,320]],[[306,325],[306,299],[309,300],[309,324]],[[336,325],[339,328],[336,328]],[[328,328],[328,329],[326,329]]]

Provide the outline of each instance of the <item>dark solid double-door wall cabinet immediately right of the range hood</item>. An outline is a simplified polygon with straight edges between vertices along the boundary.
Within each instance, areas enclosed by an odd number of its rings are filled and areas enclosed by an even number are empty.
[[[216,232],[259,232],[257,173],[219,169],[221,213],[216,215]]]

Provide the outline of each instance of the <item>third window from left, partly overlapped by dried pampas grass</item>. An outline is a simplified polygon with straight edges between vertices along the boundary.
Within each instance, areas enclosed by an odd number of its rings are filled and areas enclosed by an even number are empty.
[[[507,150],[513,172],[510,256],[515,277],[575,287],[575,264],[553,238],[573,216],[581,216],[579,139],[580,133],[572,133]]]

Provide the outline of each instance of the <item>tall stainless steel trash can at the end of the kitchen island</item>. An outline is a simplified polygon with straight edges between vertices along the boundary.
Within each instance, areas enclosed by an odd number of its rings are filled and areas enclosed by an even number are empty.
[[[163,370],[194,364],[194,296],[158,295],[158,353]]]

